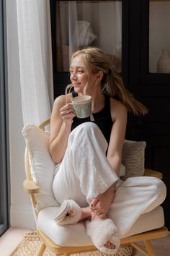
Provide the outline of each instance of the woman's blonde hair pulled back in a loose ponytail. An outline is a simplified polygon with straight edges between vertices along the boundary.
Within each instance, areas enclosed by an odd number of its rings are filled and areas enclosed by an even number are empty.
[[[94,74],[97,74],[99,71],[103,72],[104,75],[101,81],[102,92],[106,92],[110,97],[121,101],[126,106],[128,111],[133,112],[135,115],[145,115],[148,113],[148,108],[137,101],[133,97],[133,94],[125,88],[120,74],[117,74],[110,69],[107,56],[102,52],[101,49],[89,47],[76,51],[72,54],[71,61],[76,56],[81,56],[87,73],[89,73],[89,70],[91,70],[91,72]],[[71,90],[72,87],[72,85],[68,85],[66,88],[66,93],[68,93],[68,90]]]

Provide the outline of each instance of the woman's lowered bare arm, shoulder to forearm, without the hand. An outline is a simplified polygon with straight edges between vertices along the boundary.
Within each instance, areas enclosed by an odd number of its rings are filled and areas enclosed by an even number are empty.
[[[113,98],[110,99],[110,106],[113,125],[107,150],[107,159],[119,176],[128,111],[120,101],[116,101]]]

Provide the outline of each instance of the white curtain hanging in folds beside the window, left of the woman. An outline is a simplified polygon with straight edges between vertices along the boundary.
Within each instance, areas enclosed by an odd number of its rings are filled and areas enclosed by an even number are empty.
[[[23,122],[37,125],[53,104],[49,0],[17,0],[17,25]]]

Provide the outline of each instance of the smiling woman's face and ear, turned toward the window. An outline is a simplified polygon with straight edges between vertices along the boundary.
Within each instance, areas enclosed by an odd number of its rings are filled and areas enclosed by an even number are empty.
[[[76,56],[71,61],[70,80],[76,93],[84,94],[84,88],[90,80],[90,84],[95,82],[95,74],[89,73],[84,68],[84,63],[81,56]],[[88,85],[89,86],[89,85]]]

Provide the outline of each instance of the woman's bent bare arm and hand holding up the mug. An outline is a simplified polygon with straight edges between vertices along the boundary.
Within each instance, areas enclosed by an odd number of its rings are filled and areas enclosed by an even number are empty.
[[[50,154],[55,163],[60,163],[66,152],[74,116],[66,95],[55,99],[50,117]]]

